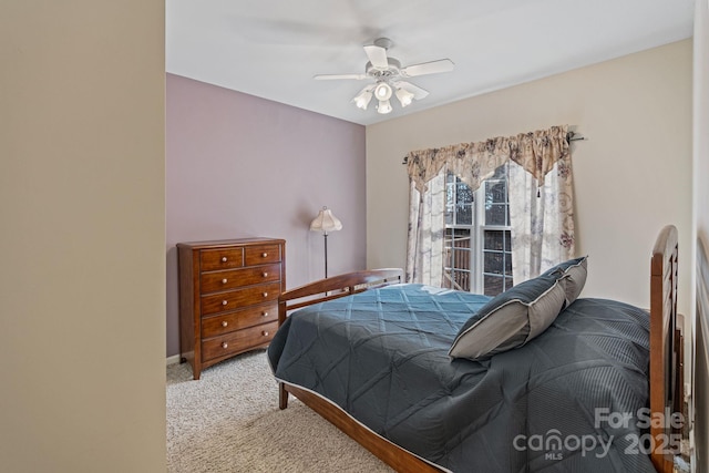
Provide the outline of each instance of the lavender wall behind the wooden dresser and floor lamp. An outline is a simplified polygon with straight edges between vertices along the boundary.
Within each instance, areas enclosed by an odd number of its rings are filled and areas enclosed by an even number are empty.
[[[323,238],[308,227],[327,205],[328,274],[366,265],[364,127],[167,74],[167,357],[179,352],[175,244],[286,239],[288,288],[323,276]]]

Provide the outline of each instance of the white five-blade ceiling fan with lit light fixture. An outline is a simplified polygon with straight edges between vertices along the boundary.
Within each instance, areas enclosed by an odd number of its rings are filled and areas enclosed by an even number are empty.
[[[387,50],[391,48],[391,40],[387,38],[379,38],[374,40],[373,44],[364,45],[364,53],[369,62],[364,66],[363,74],[318,74],[315,79],[353,79],[358,81],[372,79],[374,82],[362,89],[352,99],[352,102],[358,107],[367,110],[367,105],[369,105],[373,96],[377,97],[378,101],[377,112],[390,113],[392,107],[389,99],[391,99],[392,95],[399,99],[403,107],[410,105],[414,99],[420,100],[429,94],[428,91],[411,82],[404,81],[404,79],[453,70],[454,64],[450,59],[440,59],[438,61],[411,64],[402,68],[397,59],[387,56]]]

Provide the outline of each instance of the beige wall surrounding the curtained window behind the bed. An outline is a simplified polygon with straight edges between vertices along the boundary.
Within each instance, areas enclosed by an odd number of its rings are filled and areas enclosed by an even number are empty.
[[[368,266],[405,264],[409,151],[568,124],[588,138],[572,145],[577,253],[589,255],[583,296],[648,307],[649,254],[665,224],[689,256],[691,71],[687,40],[368,126]]]

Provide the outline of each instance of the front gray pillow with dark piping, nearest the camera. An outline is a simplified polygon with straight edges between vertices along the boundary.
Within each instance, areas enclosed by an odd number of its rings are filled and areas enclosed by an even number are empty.
[[[563,281],[545,274],[494,297],[463,325],[449,356],[476,360],[522,347],[566,307]]]

